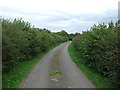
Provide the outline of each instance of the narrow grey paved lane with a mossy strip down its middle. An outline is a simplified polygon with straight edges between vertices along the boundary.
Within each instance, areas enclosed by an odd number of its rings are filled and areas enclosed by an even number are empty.
[[[64,43],[47,53],[33,68],[21,88],[95,88],[90,80],[76,67]],[[50,77],[54,70],[61,75]]]

